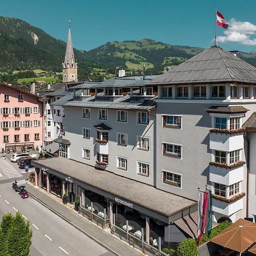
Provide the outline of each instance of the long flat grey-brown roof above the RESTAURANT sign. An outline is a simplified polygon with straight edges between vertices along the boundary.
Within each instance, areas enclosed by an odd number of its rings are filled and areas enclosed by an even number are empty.
[[[71,159],[56,157],[33,161],[34,166],[55,170],[72,179],[82,181],[94,188],[101,189],[131,203],[154,210],[163,216],[176,216],[184,208],[192,207],[197,202],[172,193],[156,189],[135,180],[127,179],[112,172],[96,170],[93,166]],[[179,218],[179,217],[177,217]]]

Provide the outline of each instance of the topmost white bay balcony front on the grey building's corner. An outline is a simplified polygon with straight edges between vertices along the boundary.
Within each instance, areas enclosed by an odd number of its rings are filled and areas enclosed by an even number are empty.
[[[212,150],[234,151],[243,148],[243,133],[214,133],[210,132],[209,147]]]

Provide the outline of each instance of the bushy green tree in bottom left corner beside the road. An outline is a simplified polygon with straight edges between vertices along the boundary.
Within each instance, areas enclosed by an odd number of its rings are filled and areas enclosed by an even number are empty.
[[[2,238],[2,239],[1,239]],[[30,252],[32,230],[20,212],[3,216],[0,229],[0,255],[27,256]]]

